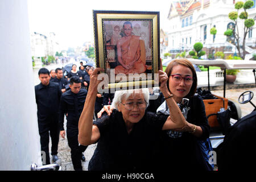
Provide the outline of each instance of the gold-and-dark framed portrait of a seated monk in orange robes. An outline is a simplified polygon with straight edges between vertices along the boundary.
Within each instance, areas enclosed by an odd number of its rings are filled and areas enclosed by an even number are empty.
[[[108,75],[105,87],[143,88],[158,82],[159,12],[93,10],[93,23],[96,67]]]

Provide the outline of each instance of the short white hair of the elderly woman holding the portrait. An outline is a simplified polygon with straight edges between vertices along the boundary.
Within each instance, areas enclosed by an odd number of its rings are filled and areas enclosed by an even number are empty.
[[[115,91],[115,96],[113,98],[112,106],[117,109],[117,106],[120,104],[120,102],[123,99],[127,99],[128,97],[131,96],[131,94],[134,93],[142,93],[144,96],[144,100],[147,102],[148,106],[148,101],[149,101],[149,91],[147,88],[141,88],[141,89],[130,89],[130,90],[118,90]]]

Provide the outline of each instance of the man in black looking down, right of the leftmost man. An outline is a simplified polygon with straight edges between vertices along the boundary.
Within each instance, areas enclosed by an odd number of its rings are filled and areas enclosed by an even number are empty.
[[[63,123],[64,114],[67,113],[67,137],[68,146],[71,148],[71,159],[73,167],[76,171],[82,171],[81,160],[85,161],[82,152],[86,150],[87,146],[79,145],[78,124],[82,109],[84,108],[87,90],[81,89],[81,80],[76,76],[71,77],[69,86],[71,89],[63,93],[60,99],[60,135],[62,138],[65,138]]]

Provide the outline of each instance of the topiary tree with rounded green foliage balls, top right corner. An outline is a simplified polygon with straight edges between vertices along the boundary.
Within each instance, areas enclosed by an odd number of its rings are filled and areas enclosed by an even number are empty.
[[[236,11],[232,11],[229,13],[229,19],[234,21],[235,26],[233,27],[233,29],[228,29],[227,31],[224,32],[224,35],[226,36],[234,36],[234,39],[236,40],[235,46],[238,50],[238,54],[240,57],[242,57],[242,59],[245,59],[245,39],[246,39],[246,35],[247,33],[251,30],[251,27],[254,26],[255,23],[255,19],[256,16],[253,18],[248,18],[248,13],[246,12],[247,9],[250,9],[251,7],[253,7],[254,2],[251,0],[246,1],[245,3],[243,3],[242,1],[238,1],[236,2],[236,4],[234,5],[234,8],[236,9]],[[243,10],[240,14],[239,14],[239,10]],[[239,14],[239,15],[238,15]],[[238,30],[238,17],[240,19],[243,19],[243,35],[241,36],[239,34],[239,30]],[[242,49],[240,46],[240,39],[242,39]]]

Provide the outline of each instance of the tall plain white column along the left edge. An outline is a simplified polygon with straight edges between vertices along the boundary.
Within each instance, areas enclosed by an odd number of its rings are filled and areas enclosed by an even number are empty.
[[[26,0],[0,1],[0,170],[40,161]]]

